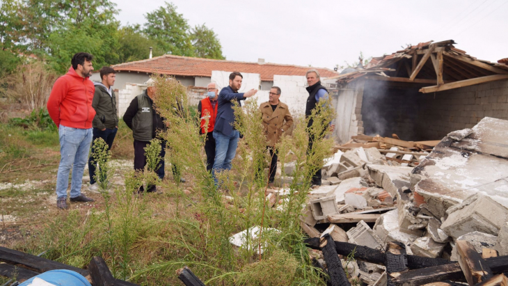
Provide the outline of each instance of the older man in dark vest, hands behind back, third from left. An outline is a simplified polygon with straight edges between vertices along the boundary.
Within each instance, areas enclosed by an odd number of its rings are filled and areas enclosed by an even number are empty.
[[[146,155],[145,147],[150,144],[154,138],[161,140],[161,152],[159,157],[161,161],[155,173],[159,179],[164,179],[164,157],[166,156],[166,141],[157,136],[157,132],[165,131],[166,125],[164,118],[161,118],[159,113],[154,111],[153,96],[157,93],[157,88],[154,85],[153,79],[148,79],[145,83],[147,88],[141,95],[134,97],[127,111],[123,116],[125,124],[132,129],[132,136],[134,137],[134,170],[145,169]],[[148,192],[157,191],[156,186],[147,186]],[[143,192],[143,186],[139,192]]]

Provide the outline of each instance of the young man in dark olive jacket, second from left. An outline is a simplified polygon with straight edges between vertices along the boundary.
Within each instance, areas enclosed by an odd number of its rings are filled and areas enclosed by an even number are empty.
[[[95,86],[95,93],[93,94],[92,107],[95,109],[95,117],[92,121],[93,126],[93,141],[92,141],[92,154],[88,158],[88,175],[90,175],[89,191],[97,191],[98,186],[95,181],[95,169],[97,163],[93,158],[95,148],[93,144],[95,139],[102,138],[108,145],[108,150],[111,150],[113,140],[115,140],[116,132],[118,130],[118,116],[116,115],[116,95],[113,92],[113,84],[115,84],[116,71],[112,67],[102,67],[100,70],[100,78],[102,82],[93,83]],[[106,178],[100,178],[104,180]]]

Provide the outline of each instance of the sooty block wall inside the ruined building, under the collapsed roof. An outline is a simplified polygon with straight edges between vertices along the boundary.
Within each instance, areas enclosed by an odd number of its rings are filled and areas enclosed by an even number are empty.
[[[471,128],[485,116],[508,120],[507,98],[508,81],[420,94],[416,128],[437,140],[454,130]]]

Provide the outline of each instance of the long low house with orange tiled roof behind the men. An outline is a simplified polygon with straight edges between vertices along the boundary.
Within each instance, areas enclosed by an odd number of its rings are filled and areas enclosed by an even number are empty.
[[[241,72],[244,80],[239,92],[251,88],[259,90],[255,96],[257,102],[266,102],[272,86],[282,90],[281,101],[288,104],[295,116],[303,116],[305,100],[308,92],[305,72],[314,68],[319,71],[322,79],[336,77],[338,72],[321,67],[303,67],[299,65],[283,65],[265,63],[260,59],[257,63],[242,61],[225,61],[208,58],[191,58],[166,54],[142,61],[120,63],[112,66],[116,74],[114,88],[118,89],[118,113],[125,113],[129,102],[145,88],[145,81],[152,74],[167,74],[175,77],[187,86],[189,104],[197,105],[205,97],[205,88],[214,82],[219,89],[228,86],[231,72]],[[91,77],[100,81],[99,72]]]

